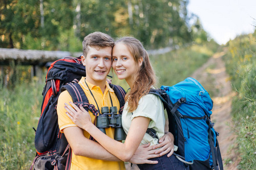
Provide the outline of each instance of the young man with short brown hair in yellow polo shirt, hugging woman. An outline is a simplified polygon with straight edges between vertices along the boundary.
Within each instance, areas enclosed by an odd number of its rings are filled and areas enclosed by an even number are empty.
[[[96,109],[112,107],[113,103],[113,106],[119,110],[119,101],[106,82],[106,76],[112,66],[113,46],[112,37],[101,32],[90,33],[82,42],[83,56],[81,59],[83,65],[86,66],[86,77],[82,77],[79,84],[88,97],[89,103],[93,104]],[[121,160],[110,154],[97,142],[90,140],[90,134],[77,127],[67,116],[64,107],[69,104],[69,101],[72,101],[72,98],[68,92],[62,92],[57,103],[57,114],[60,131],[65,134],[72,148],[71,169],[125,169]],[[95,116],[91,112],[89,113],[94,122]],[[109,137],[114,138],[112,128],[105,128],[105,130]],[[172,140],[168,139],[169,142]],[[158,156],[151,149],[146,146],[139,147],[134,159],[131,160],[134,160],[133,163],[154,163],[147,160]]]

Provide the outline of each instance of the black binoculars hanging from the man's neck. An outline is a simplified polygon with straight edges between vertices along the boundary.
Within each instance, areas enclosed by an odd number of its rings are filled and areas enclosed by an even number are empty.
[[[122,128],[122,115],[117,114],[117,107],[110,107],[110,109],[109,107],[102,107],[101,114],[97,116],[96,126],[105,134],[105,128],[115,128],[114,139],[117,141],[122,141],[126,138],[126,133]]]

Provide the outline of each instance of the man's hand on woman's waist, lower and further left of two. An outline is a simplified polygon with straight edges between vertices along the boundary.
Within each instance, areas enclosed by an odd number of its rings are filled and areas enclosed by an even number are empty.
[[[159,157],[159,154],[155,154],[155,150],[152,150],[152,146],[150,146],[150,143],[140,145],[133,155],[133,157],[130,159],[130,163],[133,164],[157,164],[158,161],[155,160],[148,160],[151,158]]]

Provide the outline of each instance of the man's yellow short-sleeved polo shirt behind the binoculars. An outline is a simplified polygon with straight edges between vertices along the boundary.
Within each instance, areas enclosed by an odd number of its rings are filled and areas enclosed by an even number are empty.
[[[109,84],[106,82],[106,89],[104,94],[102,94],[101,88],[99,86],[95,86],[86,82],[92,91],[92,94],[97,101],[98,107],[112,107],[112,103],[110,100],[110,96],[113,102],[113,106],[116,106],[119,111],[119,101],[117,96],[115,96],[114,91],[112,88],[109,87]],[[86,97],[89,100],[90,104],[93,104],[96,109],[97,104],[93,99],[93,96],[90,94],[88,87],[85,84],[85,77],[82,77],[80,82],[80,86],[85,92]],[[63,133],[63,129],[76,126],[73,121],[67,116],[65,113],[64,103],[69,104],[69,101],[72,101],[71,96],[69,95],[68,91],[64,91],[60,94],[58,104],[57,104],[57,114],[58,114],[58,121],[61,133]],[[95,116],[92,112],[89,112],[90,117],[92,118],[92,122],[95,121]],[[106,134],[110,138],[114,138],[114,128],[106,128]],[[86,138],[89,138],[90,135],[85,130],[83,130],[84,135]],[[123,162],[110,162],[98,159],[87,158],[85,156],[77,156],[72,153],[72,163],[71,169],[125,169],[125,164]]]

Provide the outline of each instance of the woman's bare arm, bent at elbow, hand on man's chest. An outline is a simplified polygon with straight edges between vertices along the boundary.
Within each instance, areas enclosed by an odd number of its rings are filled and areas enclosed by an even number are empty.
[[[135,117],[131,121],[131,126],[127,134],[125,143],[115,141],[114,139],[108,137],[102,131],[100,131],[96,126],[92,124],[89,113],[85,111],[84,108],[80,106],[78,108],[75,104],[71,103],[72,107],[66,104],[65,109],[67,110],[67,115],[71,120],[80,128],[86,130],[90,135],[101,146],[108,150],[111,154],[117,156],[117,158],[123,160],[124,162],[129,162],[133,157],[135,151],[137,150],[139,144],[141,143],[144,134],[148,128],[150,118],[146,117]]]

